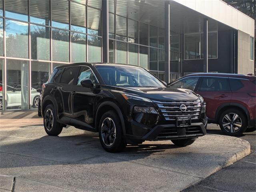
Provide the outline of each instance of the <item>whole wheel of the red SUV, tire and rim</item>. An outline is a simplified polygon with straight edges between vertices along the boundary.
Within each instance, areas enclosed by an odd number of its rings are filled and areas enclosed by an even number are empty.
[[[242,135],[247,129],[247,118],[235,108],[225,110],[218,120],[222,132],[229,136]]]

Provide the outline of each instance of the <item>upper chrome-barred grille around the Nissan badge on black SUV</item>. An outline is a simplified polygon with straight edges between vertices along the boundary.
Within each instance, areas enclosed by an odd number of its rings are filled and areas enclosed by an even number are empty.
[[[201,111],[200,100],[193,101],[154,101],[160,108],[165,120],[176,120],[176,117],[191,116],[191,119],[199,119]],[[185,112],[180,110],[180,105],[187,107]]]

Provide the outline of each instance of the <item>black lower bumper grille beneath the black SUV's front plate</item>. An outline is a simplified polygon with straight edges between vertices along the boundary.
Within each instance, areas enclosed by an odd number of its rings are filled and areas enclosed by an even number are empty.
[[[179,131],[181,129],[184,131]],[[187,128],[166,127],[158,134],[156,140],[166,140],[182,136],[201,136],[202,134],[202,130],[198,126],[191,126]]]

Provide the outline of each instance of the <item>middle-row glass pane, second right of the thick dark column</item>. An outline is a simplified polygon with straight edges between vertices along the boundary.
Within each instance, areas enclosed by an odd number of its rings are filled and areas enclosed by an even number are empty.
[[[116,39],[127,41],[126,18],[116,15]]]

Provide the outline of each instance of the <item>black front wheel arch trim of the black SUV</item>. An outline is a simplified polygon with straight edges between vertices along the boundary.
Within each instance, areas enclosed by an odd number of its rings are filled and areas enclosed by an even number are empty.
[[[125,131],[123,113],[120,110],[120,107],[118,106],[118,104],[116,104],[114,101],[110,101],[110,100],[104,101],[104,102],[102,102],[98,105],[98,108],[96,110],[96,115],[95,115],[95,129],[96,129],[96,131],[98,131],[98,126],[99,126],[99,123],[100,123],[101,116],[109,110],[114,110],[117,113],[117,115],[118,115],[118,117],[121,121],[123,134],[125,134],[126,131]]]

